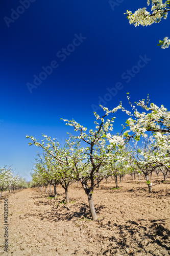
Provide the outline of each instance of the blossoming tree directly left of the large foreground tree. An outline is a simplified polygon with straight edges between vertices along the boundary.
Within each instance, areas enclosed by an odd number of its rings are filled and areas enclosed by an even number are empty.
[[[37,167],[41,177],[46,179],[48,177],[48,181],[52,180],[55,184],[55,189],[57,184],[62,185],[65,190],[66,203],[69,203],[68,186],[79,177],[83,163],[82,149],[79,149],[78,143],[72,140],[72,138],[66,140],[64,147],[61,148],[55,138],[51,139],[51,137],[46,135],[43,135],[43,137],[44,139],[40,143],[34,137],[27,135],[27,138],[32,140],[32,142],[29,142],[29,145],[34,144],[42,148],[44,152],[44,159]],[[45,165],[47,168],[45,168]],[[51,178],[49,178],[49,170]]]

